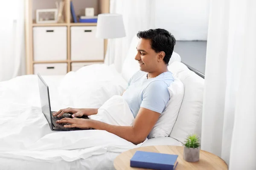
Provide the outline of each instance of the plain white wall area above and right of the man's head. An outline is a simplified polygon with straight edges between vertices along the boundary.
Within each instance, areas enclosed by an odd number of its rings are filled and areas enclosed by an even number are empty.
[[[156,0],[155,26],[176,40],[207,40],[209,0]]]

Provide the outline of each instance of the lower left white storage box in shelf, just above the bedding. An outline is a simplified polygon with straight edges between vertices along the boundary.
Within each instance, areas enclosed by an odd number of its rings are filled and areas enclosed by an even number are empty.
[[[34,74],[41,75],[65,75],[67,74],[67,63],[34,64]]]

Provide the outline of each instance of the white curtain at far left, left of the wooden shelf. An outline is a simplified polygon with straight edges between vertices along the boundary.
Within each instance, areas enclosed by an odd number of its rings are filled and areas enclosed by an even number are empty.
[[[25,74],[24,0],[4,0],[0,8],[0,81]]]

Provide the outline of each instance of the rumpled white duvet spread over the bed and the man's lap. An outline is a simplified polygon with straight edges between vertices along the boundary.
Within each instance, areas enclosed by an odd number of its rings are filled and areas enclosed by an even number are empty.
[[[91,65],[65,77],[43,77],[49,86],[52,111],[65,107],[100,107],[107,118],[99,115],[91,119],[131,125],[127,119],[111,119],[111,105],[129,110],[119,96],[126,82],[106,65]],[[119,102],[114,102],[114,101]],[[112,101],[112,102],[111,102]],[[125,108],[126,107],[126,108]],[[116,112],[117,113],[117,112]],[[139,147],[105,130],[51,131],[44,114],[35,75],[16,77],[0,82],[0,157],[32,161],[75,161],[106,152],[121,153]],[[113,115],[112,115],[113,116]],[[119,115],[119,116],[125,116]],[[121,120],[127,120],[122,122]]]

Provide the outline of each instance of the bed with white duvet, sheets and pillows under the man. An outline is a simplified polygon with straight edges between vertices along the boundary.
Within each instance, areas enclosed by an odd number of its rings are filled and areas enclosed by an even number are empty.
[[[134,45],[136,47],[137,42],[133,39],[121,74],[114,65],[90,65],[65,76],[43,76],[49,86],[52,111],[67,107],[99,108],[111,96],[122,94],[129,77],[139,69],[131,50]],[[1,169],[111,170],[115,157],[125,150],[149,145],[181,145],[188,133],[200,135],[203,79],[189,72],[176,53],[169,62],[169,70],[183,80],[186,94],[175,127],[169,137],[147,139],[138,145],[103,130],[52,132],[41,113],[36,75],[0,82]],[[198,80],[192,82],[195,79]],[[195,87],[190,88],[192,83]],[[191,91],[197,96],[190,94]],[[189,116],[185,115],[186,109],[191,110]],[[187,119],[192,121],[189,123]],[[188,125],[183,125],[184,120]]]

